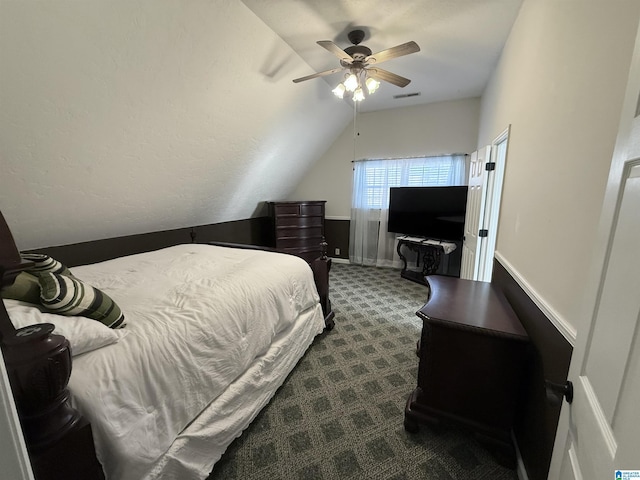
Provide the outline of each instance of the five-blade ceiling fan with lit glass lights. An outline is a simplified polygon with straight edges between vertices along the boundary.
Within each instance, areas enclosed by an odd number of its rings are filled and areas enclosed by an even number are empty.
[[[377,65],[393,58],[419,52],[420,47],[418,44],[416,42],[407,42],[372,54],[370,48],[360,45],[364,39],[364,35],[363,30],[353,30],[349,32],[347,37],[353,45],[344,50],[331,40],[318,41],[318,45],[327,49],[340,59],[340,67],[314,73],[313,75],[307,75],[306,77],[296,78],[293,82],[304,82],[312,78],[323,77],[342,70],[348,70],[349,74],[344,83],[338,85],[333,92],[340,98],[342,98],[345,91],[354,92],[353,99],[356,101],[364,99],[362,84],[366,85],[369,93],[373,93],[378,88],[379,81],[388,82],[398,87],[406,87],[409,85],[411,80],[408,78],[378,68]],[[360,91],[358,92],[358,90]]]

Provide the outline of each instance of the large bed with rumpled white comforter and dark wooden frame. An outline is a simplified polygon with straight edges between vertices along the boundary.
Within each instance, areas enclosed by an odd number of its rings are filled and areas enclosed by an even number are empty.
[[[23,258],[1,260],[5,284],[29,271]],[[15,299],[3,301],[0,320],[8,315],[18,334],[45,322],[51,338],[65,335],[73,367],[61,428],[73,428],[74,411],[90,423],[109,480],[206,478],[326,326],[314,271],[293,255],[187,243],[70,275],[112,299],[125,326]],[[16,334],[2,328],[11,353]]]

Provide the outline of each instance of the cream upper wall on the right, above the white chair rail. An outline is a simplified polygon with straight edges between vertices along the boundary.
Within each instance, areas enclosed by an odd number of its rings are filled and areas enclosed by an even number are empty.
[[[640,2],[525,0],[482,98],[511,124],[497,251],[569,330],[596,234]]]

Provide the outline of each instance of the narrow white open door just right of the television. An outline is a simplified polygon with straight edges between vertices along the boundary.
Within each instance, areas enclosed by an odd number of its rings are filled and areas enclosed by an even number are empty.
[[[467,213],[464,219],[464,242],[462,243],[462,267],[460,278],[476,280],[478,276],[478,262],[480,260],[481,237],[478,237],[482,217],[484,216],[485,197],[487,189],[485,170],[489,160],[491,147],[487,145],[479,152],[471,154],[469,164],[469,190],[467,193]]]

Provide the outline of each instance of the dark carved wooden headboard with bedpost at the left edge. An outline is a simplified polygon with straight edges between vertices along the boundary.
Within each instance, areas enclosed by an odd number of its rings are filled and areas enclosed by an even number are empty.
[[[0,286],[11,285],[30,265],[20,257],[0,212]],[[38,480],[78,478],[74,462],[84,467],[93,461],[97,473],[91,478],[103,479],[90,425],[69,404],[69,341],[53,334],[53,329],[52,324],[41,323],[16,330],[4,302],[0,302],[0,347],[33,473]],[[69,455],[84,458],[71,462]]]

